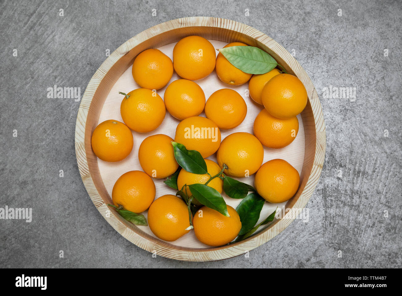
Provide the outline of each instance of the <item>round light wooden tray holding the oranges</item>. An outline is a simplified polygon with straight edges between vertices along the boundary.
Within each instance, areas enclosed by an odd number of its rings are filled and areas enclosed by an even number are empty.
[[[117,91],[128,92],[135,88],[136,85],[130,75],[133,60],[137,54],[148,48],[164,48],[169,52],[175,42],[189,35],[199,35],[211,41],[216,41],[216,43],[240,41],[250,46],[261,48],[271,54],[289,74],[296,75],[304,83],[308,93],[307,106],[298,116],[300,128],[297,137],[299,138],[296,137],[295,141],[293,141],[297,143],[294,145],[292,143],[288,146],[288,149],[287,147],[283,149],[265,149],[265,154],[268,155],[268,158],[265,158],[264,162],[273,158],[284,158],[289,161],[288,159],[290,158],[289,162],[293,166],[296,168],[299,166],[297,168],[300,173],[299,190],[293,198],[281,205],[283,209],[291,208],[292,211],[283,211],[283,217],[275,219],[270,224],[267,224],[265,228],[264,226],[261,227],[258,232],[246,240],[220,247],[208,247],[199,242],[197,243],[195,242],[195,236],[190,235],[190,233],[178,241],[165,242],[156,238],[147,226],[137,227],[123,219],[114,209],[107,207],[107,203],[112,203],[110,193],[115,180],[124,172],[137,169],[135,168],[138,164],[135,149],[138,149],[142,139],[146,136],[161,133],[160,128],[148,134],[135,135],[138,133],[133,132],[135,148],[133,148],[131,155],[127,159],[118,163],[101,161],[94,155],[91,148],[91,135],[99,122],[111,119],[110,116],[112,115],[110,114],[113,114],[112,118],[122,121],[121,117],[119,117],[119,110],[120,102],[123,98],[117,94]],[[217,79],[215,73],[209,76],[211,76],[212,80],[197,81],[200,85],[204,83],[202,85],[204,91],[205,88],[210,89],[209,93],[205,91],[207,98],[208,94],[213,91],[228,87],[228,85],[224,85]],[[177,79],[177,75],[176,78],[172,78],[172,80],[174,79]],[[246,89],[247,85],[248,83],[243,85],[243,89]],[[160,94],[159,91],[158,93]],[[255,118],[257,114],[256,108],[259,107],[257,107],[257,104],[253,104],[251,99],[248,100],[247,104],[248,113],[252,112],[253,114],[250,114],[250,116]],[[108,117],[108,115],[110,116]],[[166,112],[166,116],[170,115]],[[176,120],[175,124],[171,124],[174,122],[171,116],[165,118],[166,120],[170,129],[174,130],[178,121]],[[246,129],[246,131],[252,133],[253,120],[247,120],[248,118],[246,117],[243,131]],[[229,133],[240,130],[231,130]],[[304,134],[300,132],[303,130]],[[170,136],[174,138],[174,133]],[[224,134],[222,136],[223,139]],[[295,213],[299,213],[312,196],[322,171],[325,148],[325,125],[321,104],[312,81],[295,58],[275,40],[260,31],[242,23],[213,17],[187,17],[168,21],[139,33],[117,48],[96,70],[88,83],[78,110],[75,133],[76,157],[82,181],[90,199],[103,217],[117,232],[133,244],[156,255],[183,261],[214,261],[238,256],[264,244],[279,234],[295,219]],[[300,151],[303,150],[304,152],[301,153]],[[294,163],[296,164],[294,165]],[[248,183],[251,184],[251,181]],[[157,197],[160,196],[158,195],[158,190],[162,190],[162,187],[158,184],[156,185]],[[228,198],[225,198],[225,200],[228,201]],[[235,201],[240,202],[239,200]],[[228,204],[231,202],[228,201]],[[261,213],[261,219],[265,219],[267,213],[271,213],[272,209],[276,207],[273,204],[266,204],[267,209],[265,209],[264,213]]]

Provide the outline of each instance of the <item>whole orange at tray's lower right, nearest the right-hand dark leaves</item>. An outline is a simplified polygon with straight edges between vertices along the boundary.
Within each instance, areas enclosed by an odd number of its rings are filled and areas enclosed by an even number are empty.
[[[270,203],[289,200],[299,188],[299,173],[283,159],[272,159],[255,174],[254,187]]]

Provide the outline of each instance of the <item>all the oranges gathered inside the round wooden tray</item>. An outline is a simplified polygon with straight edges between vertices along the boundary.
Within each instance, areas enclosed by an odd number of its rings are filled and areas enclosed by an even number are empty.
[[[233,42],[229,46],[247,46]],[[228,85],[248,82],[251,99],[263,106],[254,121],[254,135],[234,132],[221,141],[221,130],[230,130],[242,123],[247,114],[243,97],[232,89],[219,89],[206,100],[203,89],[195,82],[210,75]],[[181,79],[172,81],[164,97],[158,90],[165,87],[176,72]],[[307,92],[301,81],[273,69],[252,75],[233,66],[221,53],[216,56],[212,44],[200,36],[188,36],[176,43],[173,62],[157,49],[141,52],[132,67],[134,81],[141,87],[123,96],[120,112],[123,122],[106,120],[92,133],[92,149],[103,161],[121,161],[133,148],[133,132],[155,130],[164,120],[166,110],[180,120],[174,139],[157,134],[146,137],[139,146],[138,159],[143,171],[126,172],[113,186],[113,203],[133,213],[148,209],[148,225],[160,239],[174,241],[190,231],[186,203],[175,195],[155,199],[153,178],[174,174],[179,165],[172,141],[188,150],[197,150],[205,159],[208,174],[193,174],[183,168],[177,176],[178,189],[184,185],[205,184],[211,176],[224,174],[247,177],[255,174],[258,194],[271,203],[287,201],[299,188],[299,174],[283,159],[263,164],[263,146],[282,148],[296,137],[296,118],[307,104]],[[205,116],[199,116],[205,112]],[[206,159],[216,153],[217,163]],[[207,184],[222,193],[222,178]],[[187,192],[191,196],[191,192]],[[198,201],[194,200],[197,205]],[[198,203],[198,205],[201,205]],[[192,217],[197,238],[210,246],[228,244],[238,235],[242,224],[230,206],[230,217],[208,207],[201,207]]]

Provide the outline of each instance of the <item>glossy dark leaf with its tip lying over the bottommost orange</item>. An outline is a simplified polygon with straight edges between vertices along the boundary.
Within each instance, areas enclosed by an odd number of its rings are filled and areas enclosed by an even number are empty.
[[[205,184],[191,184],[188,186],[197,201],[226,217],[230,217],[225,200],[216,189]]]

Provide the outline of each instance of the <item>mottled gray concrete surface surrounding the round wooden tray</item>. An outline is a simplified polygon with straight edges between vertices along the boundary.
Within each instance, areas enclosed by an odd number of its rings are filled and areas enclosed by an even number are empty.
[[[310,220],[249,258],[152,258],[125,240],[82,184],[79,102],[47,98],[55,84],[82,95],[106,49],[189,16],[239,21],[294,50],[322,103],[326,159]],[[0,220],[0,267],[401,267],[401,16],[400,1],[0,1],[0,207],[33,208],[31,223]],[[325,99],[330,85],[356,87],[356,100]]]

